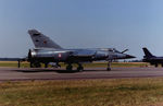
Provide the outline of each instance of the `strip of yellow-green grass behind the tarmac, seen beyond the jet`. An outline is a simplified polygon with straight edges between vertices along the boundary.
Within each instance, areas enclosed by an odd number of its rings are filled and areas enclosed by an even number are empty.
[[[148,63],[143,62],[113,62],[111,67],[146,67]],[[63,68],[65,68],[64,63],[61,63]],[[76,64],[74,64],[76,67]],[[0,67],[17,67],[17,61],[0,61]],[[29,68],[28,62],[22,62],[22,68]],[[43,64],[42,64],[43,67]],[[50,66],[49,66],[50,67]],[[106,67],[106,62],[93,62],[93,63],[84,63],[85,68],[91,67]]]

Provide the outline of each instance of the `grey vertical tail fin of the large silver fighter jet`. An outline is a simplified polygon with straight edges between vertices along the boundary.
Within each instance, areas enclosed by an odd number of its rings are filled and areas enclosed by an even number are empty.
[[[30,35],[36,48],[62,49],[62,47],[55,44],[52,39],[36,30],[29,30],[28,34]]]

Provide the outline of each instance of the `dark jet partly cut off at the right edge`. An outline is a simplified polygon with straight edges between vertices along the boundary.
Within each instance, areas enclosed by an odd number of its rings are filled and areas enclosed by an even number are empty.
[[[158,67],[159,63],[161,63],[161,66],[163,67],[163,57],[156,57],[153,56],[147,48],[142,48],[145,56],[142,61],[143,62],[150,62],[150,64],[153,64],[155,67]]]

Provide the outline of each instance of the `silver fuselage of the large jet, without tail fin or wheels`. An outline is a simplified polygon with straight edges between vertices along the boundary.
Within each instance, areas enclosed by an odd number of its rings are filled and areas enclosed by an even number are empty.
[[[85,62],[108,59],[130,58],[126,54],[109,51],[109,49],[33,49],[30,59],[40,62]]]

